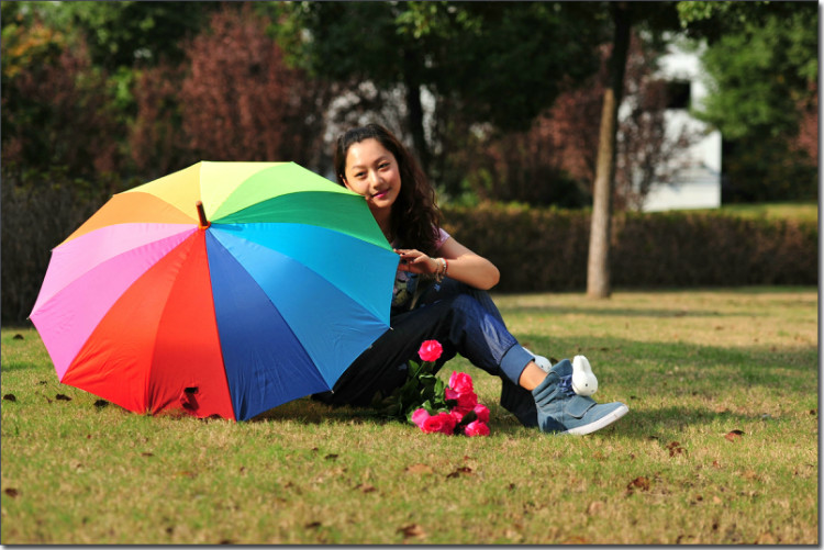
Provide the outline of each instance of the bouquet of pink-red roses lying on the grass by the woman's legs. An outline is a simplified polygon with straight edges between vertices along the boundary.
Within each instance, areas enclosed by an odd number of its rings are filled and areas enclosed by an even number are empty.
[[[383,401],[385,412],[427,434],[488,436],[489,409],[478,403],[471,377],[453,372],[448,385],[435,377],[434,364],[442,352],[437,340],[421,345],[422,362],[410,361],[407,382]]]

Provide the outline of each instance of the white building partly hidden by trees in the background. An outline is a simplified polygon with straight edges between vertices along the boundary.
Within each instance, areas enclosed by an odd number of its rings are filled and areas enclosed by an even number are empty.
[[[670,44],[660,60],[660,76],[680,87],[680,102],[666,112],[667,132],[675,138],[681,128],[701,137],[672,162],[667,183],[654,183],[642,207],[645,212],[721,206],[721,133],[690,116],[689,106],[706,97],[699,54]]]

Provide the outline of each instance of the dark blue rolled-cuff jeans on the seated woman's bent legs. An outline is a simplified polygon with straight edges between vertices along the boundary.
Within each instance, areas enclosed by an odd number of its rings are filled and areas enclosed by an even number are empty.
[[[501,378],[504,408],[525,426],[537,425],[532,392],[517,385],[533,356],[506,329],[488,292],[446,278],[431,283],[414,310],[394,313],[390,325],[390,330],[349,366],[332,392],[314,397],[337,405],[368,406],[376,394],[389,395],[403,384],[407,362],[420,361],[421,344],[434,339],[444,348],[436,370],[460,353],[476,367]]]

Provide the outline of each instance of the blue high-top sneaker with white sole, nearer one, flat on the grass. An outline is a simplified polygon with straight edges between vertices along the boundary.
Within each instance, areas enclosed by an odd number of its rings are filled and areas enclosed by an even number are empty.
[[[572,363],[564,359],[553,366],[532,391],[542,431],[583,436],[617,420],[630,407],[621,402],[599,404],[572,390]]]

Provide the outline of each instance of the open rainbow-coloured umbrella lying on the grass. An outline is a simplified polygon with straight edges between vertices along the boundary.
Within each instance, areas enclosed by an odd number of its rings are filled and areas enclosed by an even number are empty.
[[[136,413],[247,419],[332,388],[389,328],[398,256],[294,162],[198,162],[52,251],[31,319],[60,382]]]

